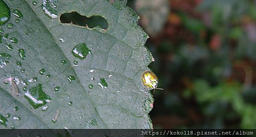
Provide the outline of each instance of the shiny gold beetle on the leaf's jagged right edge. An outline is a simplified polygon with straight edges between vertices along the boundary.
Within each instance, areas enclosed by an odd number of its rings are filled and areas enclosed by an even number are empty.
[[[160,89],[160,88],[157,88],[157,84],[158,84],[157,75],[150,70],[145,70],[142,73],[141,82],[147,89],[150,89],[150,90],[154,89],[154,92],[155,92],[155,89]],[[160,89],[160,90],[163,90],[163,89]]]

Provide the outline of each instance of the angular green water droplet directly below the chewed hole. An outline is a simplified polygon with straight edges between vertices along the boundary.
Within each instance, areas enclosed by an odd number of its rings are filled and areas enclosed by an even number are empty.
[[[72,54],[79,59],[85,59],[87,54],[91,54],[91,50],[89,50],[89,48],[87,48],[85,43],[79,43],[78,45],[76,45],[73,50],[72,50]]]

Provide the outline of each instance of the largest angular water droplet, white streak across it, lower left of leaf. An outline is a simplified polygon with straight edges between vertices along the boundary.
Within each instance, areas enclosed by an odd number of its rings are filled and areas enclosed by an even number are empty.
[[[27,92],[25,92],[24,97],[29,101],[29,104],[34,109],[44,106],[46,103],[52,101],[50,96],[43,91],[42,84],[38,84],[36,87],[31,87]]]

